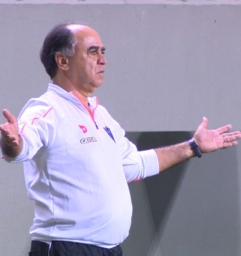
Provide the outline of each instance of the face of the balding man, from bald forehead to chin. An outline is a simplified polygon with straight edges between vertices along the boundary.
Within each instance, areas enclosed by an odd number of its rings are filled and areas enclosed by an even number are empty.
[[[77,44],[74,56],[69,59],[68,75],[73,81],[74,88],[81,94],[88,96],[103,83],[104,46],[99,34],[87,26],[69,25],[74,32]]]

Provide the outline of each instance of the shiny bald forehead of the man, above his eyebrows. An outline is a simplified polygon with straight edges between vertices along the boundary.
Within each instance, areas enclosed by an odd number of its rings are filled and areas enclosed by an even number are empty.
[[[77,40],[77,47],[89,48],[91,46],[103,46],[99,34],[88,26],[73,24],[69,25],[68,29],[74,34]]]

